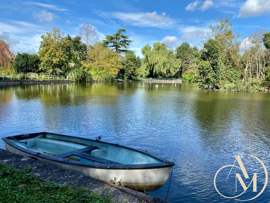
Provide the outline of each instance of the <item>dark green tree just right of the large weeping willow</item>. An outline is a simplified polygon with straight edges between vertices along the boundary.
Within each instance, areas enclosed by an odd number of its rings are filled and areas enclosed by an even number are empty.
[[[183,42],[179,47],[176,48],[176,58],[181,59],[181,66],[178,70],[178,77],[180,77],[185,70],[189,68],[190,62],[194,57],[193,52],[197,50],[197,47],[191,48],[190,44]]]

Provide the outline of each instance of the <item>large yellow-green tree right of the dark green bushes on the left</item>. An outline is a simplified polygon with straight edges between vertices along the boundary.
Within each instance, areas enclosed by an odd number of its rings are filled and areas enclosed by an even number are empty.
[[[56,74],[62,72],[62,69],[68,64],[66,48],[70,41],[64,35],[65,33],[61,33],[58,28],[53,28],[46,35],[41,35],[42,41],[38,51],[42,61],[39,66],[40,71]]]

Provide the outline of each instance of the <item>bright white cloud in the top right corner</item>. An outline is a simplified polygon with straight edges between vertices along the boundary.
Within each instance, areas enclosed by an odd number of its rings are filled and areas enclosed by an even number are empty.
[[[270,13],[270,0],[247,0],[240,8],[238,18],[255,17]]]

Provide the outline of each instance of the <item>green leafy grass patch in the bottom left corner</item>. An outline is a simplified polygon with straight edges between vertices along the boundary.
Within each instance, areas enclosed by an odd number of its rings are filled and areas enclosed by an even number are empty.
[[[1,203],[114,203],[109,196],[93,192],[85,187],[70,187],[45,182],[32,175],[31,168],[15,169],[0,163]]]

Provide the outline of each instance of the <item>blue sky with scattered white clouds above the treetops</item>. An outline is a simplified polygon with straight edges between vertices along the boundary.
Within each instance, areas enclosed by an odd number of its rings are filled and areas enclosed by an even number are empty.
[[[96,28],[99,40],[118,29],[134,42],[130,50],[141,54],[144,45],[162,42],[176,48],[183,42],[200,47],[202,35],[211,33],[215,18],[226,17],[242,39],[258,29],[270,31],[270,0],[195,1],[3,1],[0,5],[0,39],[15,42],[13,53],[35,54],[40,36],[59,28],[78,35],[83,23]]]

